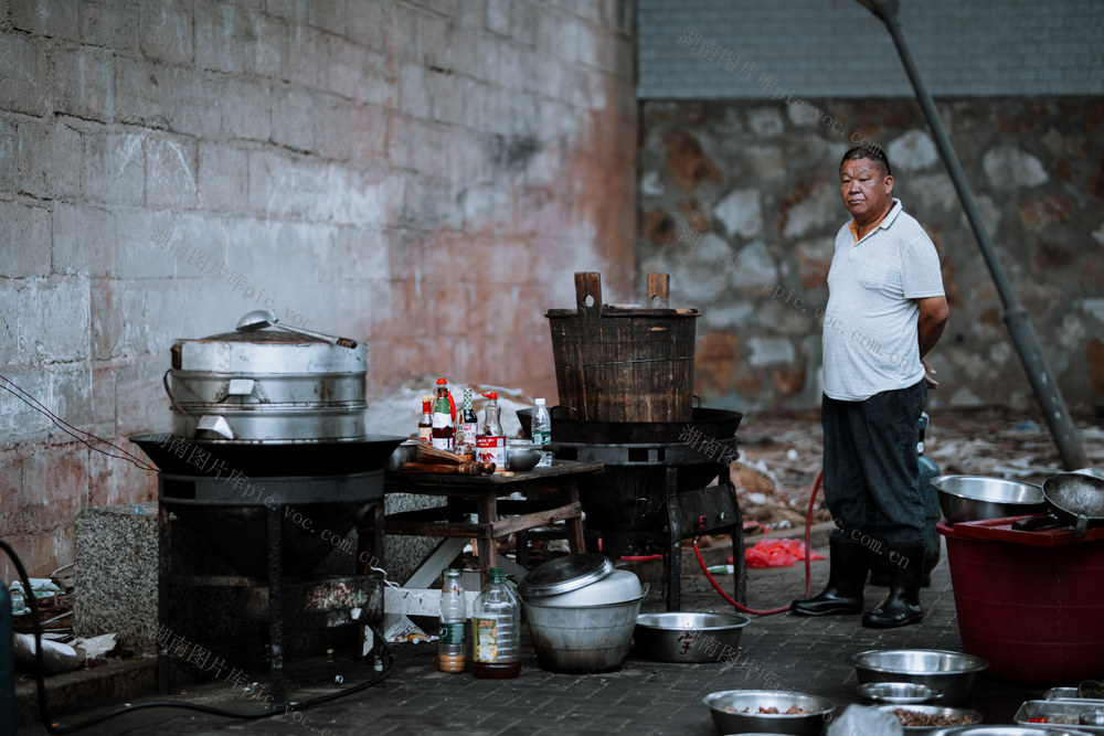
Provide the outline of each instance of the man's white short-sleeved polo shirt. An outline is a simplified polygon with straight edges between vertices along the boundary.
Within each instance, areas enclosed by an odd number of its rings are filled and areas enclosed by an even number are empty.
[[[944,296],[935,245],[900,200],[862,239],[854,227],[836,234],[822,337],[825,394],[845,402],[924,377],[914,300]]]

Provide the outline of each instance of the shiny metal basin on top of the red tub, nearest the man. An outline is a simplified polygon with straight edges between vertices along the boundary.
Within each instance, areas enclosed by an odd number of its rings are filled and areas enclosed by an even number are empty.
[[[940,509],[951,524],[1022,516],[1047,511],[1042,487],[985,476],[937,476],[928,481],[940,494]]]

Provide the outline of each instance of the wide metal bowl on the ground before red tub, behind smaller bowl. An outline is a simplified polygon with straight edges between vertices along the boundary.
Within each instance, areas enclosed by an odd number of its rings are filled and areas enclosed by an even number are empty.
[[[851,654],[860,683],[915,682],[943,691],[943,705],[965,705],[974,695],[974,680],[988,660],[941,649],[869,649]]]

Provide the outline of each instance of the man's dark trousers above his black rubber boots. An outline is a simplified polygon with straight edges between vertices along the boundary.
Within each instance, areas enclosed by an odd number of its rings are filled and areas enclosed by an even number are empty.
[[[832,536],[874,548],[924,544],[916,426],[927,385],[885,391],[864,402],[824,396],[824,491]]]

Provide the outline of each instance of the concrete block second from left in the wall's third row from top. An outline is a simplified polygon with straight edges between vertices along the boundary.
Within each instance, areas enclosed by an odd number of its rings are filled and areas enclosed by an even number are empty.
[[[43,199],[81,193],[82,136],[55,120],[17,125],[20,191]]]

